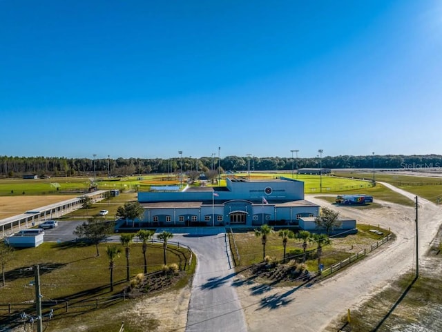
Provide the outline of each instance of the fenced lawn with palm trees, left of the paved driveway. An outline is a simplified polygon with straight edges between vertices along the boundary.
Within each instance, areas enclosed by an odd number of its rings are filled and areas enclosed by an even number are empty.
[[[115,244],[115,243],[114,243]],[[113,245],[113,244],[109,244]],[[84,293],[84,297],[109,296],[120,293],[126,282],[126,257],[124,247],[117,245],[120,256],[115,260],[115,289],[109,288],[109,260],[106,255],[106,244],[99,244],[99,257],[95,246],[82,243],[45,242],[37,248],[16,249],[13,260],[7,262],[6,286],[0,288],[1,303],[19,303],[35,298],[35,288],[30,285],[34,280],[33,272],[27,269],[38,264],[41,274],[41,293],[46,299],[64,300],[73,294]],[[131,278],[144,271],[142,244],[131,244],[130,266]],[[163,264],[161,243],[149,243],[147,248],[148,273],[160,271]],[[184,268],[189,262],[189,251],[186,248],[175,248],[169,245],[166,251],[167,263],[176,263]],[[188,268],[188,266],[186,266]],[[77,299],[81,299],[81,295]]]

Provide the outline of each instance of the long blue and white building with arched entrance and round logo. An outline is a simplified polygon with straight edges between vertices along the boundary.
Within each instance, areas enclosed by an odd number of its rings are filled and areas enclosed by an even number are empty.
[[[304,182],[296,179],[226,181],[225,187],[139,192],[138,202],[145,209],[140,222],[164,227],[297,225],[301,217],[319,213],[318,205],[304,199]]]

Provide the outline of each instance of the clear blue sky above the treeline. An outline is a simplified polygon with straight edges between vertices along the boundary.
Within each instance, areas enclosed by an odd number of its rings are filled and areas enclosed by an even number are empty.
[[[0,0],[0,155],[442,154],[442,1]]]

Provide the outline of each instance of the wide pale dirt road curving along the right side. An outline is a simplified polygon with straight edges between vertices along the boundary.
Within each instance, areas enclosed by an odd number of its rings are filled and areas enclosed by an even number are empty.
[[[392,188],[414,199],[414,195]],[[358,210],[336,207],[311,195],[307,195],[306,199],[340,211],[341,215],[355,218],[359,223],[390,227],[397,239],[343,273],[310,287],[261,287],[257,292],[257,285],[253,283],[238,286],[249,332],[268,331],[272,326],[280,331],[323,331],[329,322],[345,315],[347,309],[355,309],[398,275],[414,267],[414,208],[378,202],[382,204],[381,208]],[[420,256],[425,254],[440,223],[441,208],[425,199],[419,199]]]

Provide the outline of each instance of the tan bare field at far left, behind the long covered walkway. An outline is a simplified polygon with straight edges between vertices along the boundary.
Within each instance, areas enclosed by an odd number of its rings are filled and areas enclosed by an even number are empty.
[[[32,208],[39,208],[49,204],[75,198],[77,195],[48,195],[48,196],[1,196],[0,219],[25,213]]]

